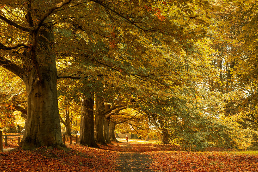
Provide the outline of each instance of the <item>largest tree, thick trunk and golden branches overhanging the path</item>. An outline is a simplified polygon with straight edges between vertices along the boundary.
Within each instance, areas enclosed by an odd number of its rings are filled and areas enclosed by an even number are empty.
[[[20,144],[23,149],[64,147],[56,90],[57,78],[64,76],[57,76],[56,58],[95,61],[119,72],[122,79],[127,75],[138,78],[135,85],[147,82],[158,84],[155,89],[168,88],[175,83],[177,74],[173,74],[175,78],[170,77],[170,72],[165,77],[161,74],[161,66],[168,61],[163,48],[168,47],[169,56],[184,56],[186,52],[188,57],[199,38],[209,37],[209,24],[204,19],[209,17],[206,11],[213,9],[208,1],[35,0],[3,1],[0,5],[4,34],[0,65],[20,77],[27,91],[28,126]],[[197,16],[198,7],[201,10]],[[196,18],[198,21],[192,20]],[[150,62],[158,68],[144,69]],[[123,68],[124,64],[128,65]],[[188,58],[186,64],[188,69]],[[161,82],[165,79],[167,83]],[[98,107],[102,106],[102,98],[97,99]]]

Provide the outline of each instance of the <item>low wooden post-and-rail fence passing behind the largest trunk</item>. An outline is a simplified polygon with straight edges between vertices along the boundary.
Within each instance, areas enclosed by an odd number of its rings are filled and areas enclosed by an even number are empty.
[[[0,152],[3,152],[3,136],[4,136],[4,139],[5,139],[5,146],[7,146],[8,145],[8,136],[23,136],[23,134],[3,135],[3,132],[0,131],[0,138],[1,138],[0,139]],[[65,136],[65,134],[63,134],[64,144],[65,144],[66,138],[67,138],[67,141],[70,140],[70,144],[73,143],[73,140],[75,140],[76,143],[78,142],[78,136],[77,135],[76,135],[76,137],[73,137],[73,136]],[[9,139],[17,139],[18,144],[20,144],[21,137],[9,138]]]

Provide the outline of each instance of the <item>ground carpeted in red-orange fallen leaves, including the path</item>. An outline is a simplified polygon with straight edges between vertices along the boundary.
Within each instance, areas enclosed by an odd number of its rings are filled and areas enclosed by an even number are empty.
[[[100,149],[79,144],[71,151],[41,147],[0,153],[0,171],[181,172],[258,171],[258,156],[234,151],[184,152],[157,142],[125,140]]]

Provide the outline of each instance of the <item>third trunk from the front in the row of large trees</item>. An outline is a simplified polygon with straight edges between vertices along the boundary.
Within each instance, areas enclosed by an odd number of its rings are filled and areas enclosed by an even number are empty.
[[[101,114],[105,110],[104,101],[96,97],[96,113],[95,113],[95,141],[101,145],[106,145],[103,133],[104,117]]]

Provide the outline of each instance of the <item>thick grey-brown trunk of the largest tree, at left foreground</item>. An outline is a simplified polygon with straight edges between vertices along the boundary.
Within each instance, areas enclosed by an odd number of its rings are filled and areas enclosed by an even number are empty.
[[[55,54],[52,52],[54,34],[48,31],[40,31],[43,36],[38,36],[39,47],[36,50],[36,64],[32,64],[31,60],[26,63],[24,61],[23,80],[27,91],[27,124],[24,136],[21,140],[20,147],[22,149],[35,149],[40,146],[49,148],[66,149],[62,142],[61,127],[59,121],[57,89],[56,89],[56,62]],[[26,52],[28,59],[30,52]],[[39,75],[40,73],[40,75]]]

